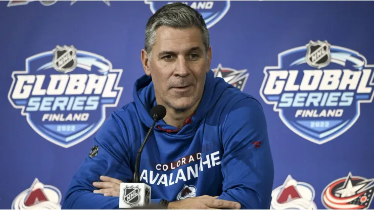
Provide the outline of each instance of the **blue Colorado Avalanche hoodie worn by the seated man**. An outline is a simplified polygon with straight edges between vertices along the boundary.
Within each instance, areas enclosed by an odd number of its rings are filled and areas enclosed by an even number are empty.
[[[88,155],[74,175],[63,209],[116,209],[118,197],[93,193],[102,175],[130,182],[136,153],[156,104],[151,77],[134,84],[134,101],[113,112],[99,129],[94,158]],[[204,94],[181,129],[156,123],[142,153],[141,182],[152,188],[151,202],[210,195],[237,201],[242,209],[269,209],[273,161],[260,103],[207,73]]]

